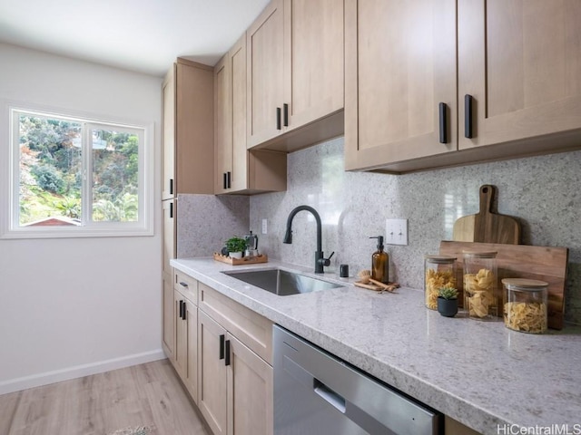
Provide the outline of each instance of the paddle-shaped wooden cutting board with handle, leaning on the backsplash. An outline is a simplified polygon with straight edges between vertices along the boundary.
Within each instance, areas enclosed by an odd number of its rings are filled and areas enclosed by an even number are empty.
[[[493,213],[492,201],[496,188],[480,187],[480,210],[476,215],[459,218],[454,223],[452,240],[457,242],[520,243],[520,224],[517,219]]]

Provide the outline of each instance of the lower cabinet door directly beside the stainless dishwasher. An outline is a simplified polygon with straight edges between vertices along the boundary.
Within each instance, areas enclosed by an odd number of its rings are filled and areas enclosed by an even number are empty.
[[[230,333],[228,434],[273,433],[272,367]]]

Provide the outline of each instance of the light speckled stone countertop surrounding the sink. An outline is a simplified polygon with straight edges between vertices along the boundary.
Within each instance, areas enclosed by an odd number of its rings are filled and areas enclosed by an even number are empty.
[[[535,335],[502,321],[442,317],[426,309],[418,289],[379,294],[350,285],[353,277],[271,260],[229,266],[192,258],[172,266],[481,433],[548,433],[508,431],[513,424],[568,424],[570,432],[550,433],[581,433],[579,327]],[[222,274],[275,266],[346,286],[278,296]]]

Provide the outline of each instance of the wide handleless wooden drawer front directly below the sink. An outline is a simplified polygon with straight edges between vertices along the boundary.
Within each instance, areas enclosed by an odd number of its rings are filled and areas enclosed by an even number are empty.
[[[200,308],[272,365],[272,322],[208,285],[199,288]]]

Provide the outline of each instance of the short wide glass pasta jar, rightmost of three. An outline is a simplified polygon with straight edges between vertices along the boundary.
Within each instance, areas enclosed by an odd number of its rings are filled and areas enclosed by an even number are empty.
[[[536,279],[505,278],[502,285],[505,326],[521,333],[545,333],[548,284]]]

